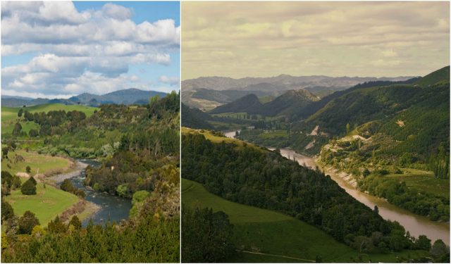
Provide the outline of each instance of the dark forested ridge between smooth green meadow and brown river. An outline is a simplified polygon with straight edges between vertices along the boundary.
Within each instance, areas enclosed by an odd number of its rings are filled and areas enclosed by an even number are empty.
[[[182,134],[182,175],[210,192],[295,216],[360,251],[419,247],[404,236],[397,222],[383,220],[377,209],[359,203],[321,172],[275,151],[226,138],[214,143],[206,137],[211,135]]]

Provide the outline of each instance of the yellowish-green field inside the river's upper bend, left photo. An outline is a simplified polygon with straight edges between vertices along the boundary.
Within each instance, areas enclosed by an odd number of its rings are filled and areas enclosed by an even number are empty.
[[[22,156],[25,161],[16,162],[16,155]],[[38,172],[38,169],[39,174],[51,175],[56,172],[66,172],[70,170],[70,165],[72,165],[72,162],[67,158],[52,157],[50,155],[42,155],[31,151],[26,152],[17,150],[8,152],[8,158],[4,158],[1,161],[1,170],[6,170],[11,172],[12,175],[16,175],[17,172],[25,172],[27,166],[30,166],[31,175],[35,175]]]

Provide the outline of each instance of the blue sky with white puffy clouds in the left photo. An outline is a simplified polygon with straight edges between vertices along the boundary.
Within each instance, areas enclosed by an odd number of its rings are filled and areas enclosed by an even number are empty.
[[[180,89],[180,3],[1,1],[1,94]]]

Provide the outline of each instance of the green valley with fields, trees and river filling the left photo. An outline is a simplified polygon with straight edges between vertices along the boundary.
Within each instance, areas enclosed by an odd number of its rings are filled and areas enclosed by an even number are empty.
[[[2,106],[2,262],[178,260],[180,94],[142,101]]]

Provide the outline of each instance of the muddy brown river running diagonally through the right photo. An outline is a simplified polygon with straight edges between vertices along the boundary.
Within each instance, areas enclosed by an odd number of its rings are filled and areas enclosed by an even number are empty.
[[[235,131],[225,132],[226,137],[234,138]],[[270,148],[271,150],[273,148]],[[280,149],[280,154],[285,158],[290,158],[292,160],[296,159],[297,163],[300,165],[305,165],[309,168],[316,168],[317,163],[314,158],[309,156],[304,156],[302,154],[296,153],[291,149]],[[421,215],[416,215],[410,213],[407,210],[394,206],[384,199],[380,199],[376,196],[365,194],[362,191],[356,189],[352,184],[345,181],[331,170],[326,171],[330,178],[337,182],[337,184],[345,189],[345,191],[352,197],[364,203],[369,208],[373,209],[374,206],[378,206],[379,214],[386,220],[392,220],[399,222],[406,231],[418,238],[420,234],[426,234],[426,236],[431,239],[432,243],[436,239],[442,239],[445,244],[450,245],[450,223],[449,222],[434,222],[425,218]]]

